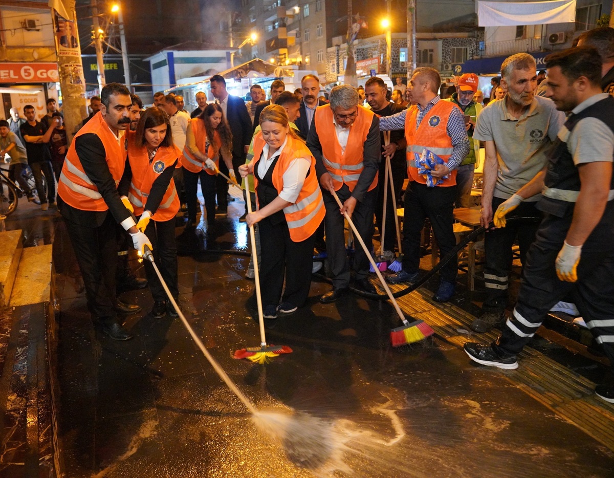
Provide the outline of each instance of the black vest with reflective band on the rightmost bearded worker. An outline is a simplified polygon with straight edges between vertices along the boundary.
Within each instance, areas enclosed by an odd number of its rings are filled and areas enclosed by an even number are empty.
[[[567,143],[561,139],[564,136],[562,133],[572,133],[573,128],[580,120],[593,117],[604,122],[614,132],[614,98],[608,96],[604,100],[583,109],[578,114],[572,114],[559,132],[550,151],[548,152],[548,170],[544,178],[544,186],[547,188],[563,190],[565,192],[580,192],[580,174],[578,168],[573,163],[572,154],[569,152]],[[565,139],[568,137],[565,136]],[[614,189],[614,176],[610,184],[610,189]],[[547,193],[546,193],[547,194]],[[563,217],[565,213],[573,211],[574,200],[564,200],[562,198],[552,198],[542,196],[542,199],[537,205],[539,210],[545,213],[554,214],[558,217]]]

